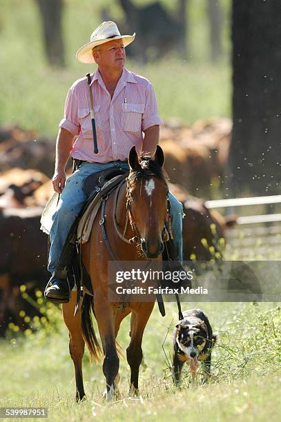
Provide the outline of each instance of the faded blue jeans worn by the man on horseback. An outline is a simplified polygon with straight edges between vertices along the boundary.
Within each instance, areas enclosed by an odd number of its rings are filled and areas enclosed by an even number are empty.
[[[57,211],[53,217],[52,228],[50,230],[50,252],[48,270],[53,273],[59,266],[59,258],[66,243],[68,233],[77,215],[87,200],[87,195],[83,191],[83,184],[90,174],[99,172],[106,168],[115,167],[115,163],[82,163],[66,181],[66,185],[59,199]],[[122,169],[128,170],[127,163],[118,163]],[[172,231],[175,248],[182,262],[182,203],[169,192],[171,201]]]

